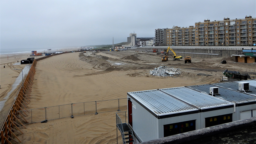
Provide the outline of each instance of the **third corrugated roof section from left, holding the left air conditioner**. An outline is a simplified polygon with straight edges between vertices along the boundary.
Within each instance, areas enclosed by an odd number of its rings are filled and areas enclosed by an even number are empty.
[[[215,87],[214,85],[206,84],[206,85],[195,85],[195,86],[188,86],[188,88],[192,88],[206,94],[210,93],[210,87]],[[219,87],[219,95],[215,95],[215,97],[224,99],[226,101],[232,103],[243,103],[249,101],[255,101],[256,97],[248,95],[246,93],[232,91],[226,88]]]

